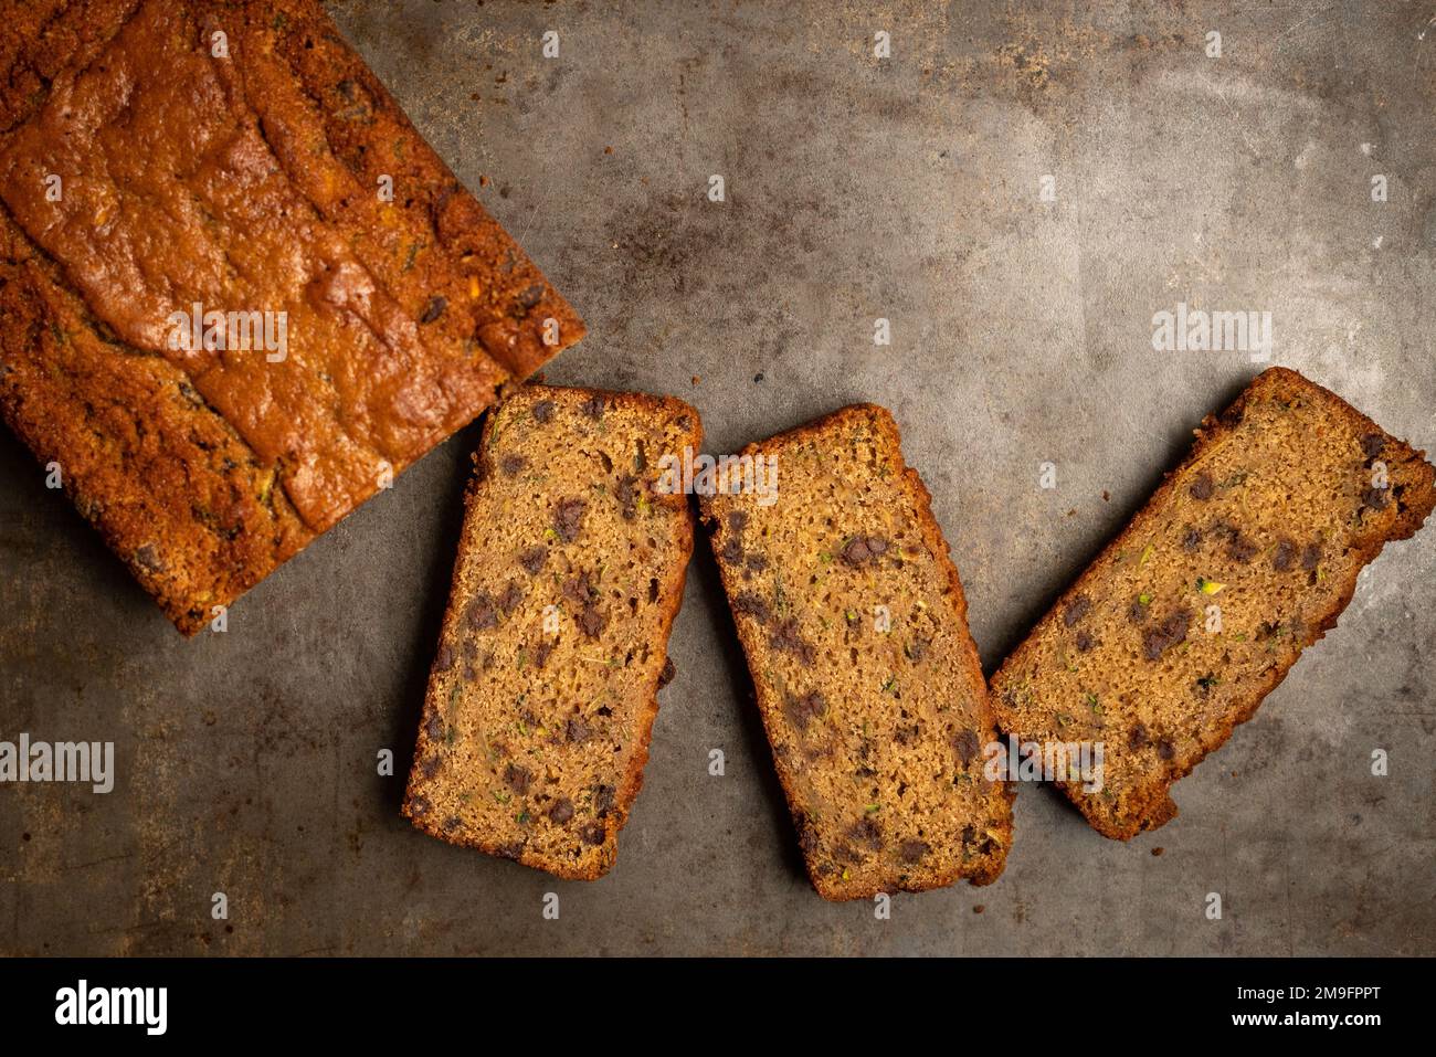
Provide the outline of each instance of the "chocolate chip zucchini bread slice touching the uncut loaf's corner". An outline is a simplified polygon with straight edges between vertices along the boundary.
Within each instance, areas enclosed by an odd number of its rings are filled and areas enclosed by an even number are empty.
[[[484,425],[404,814],[592,880],[638,796],[694,546],[665,460],[698,412],[645,394],[518,389]]]

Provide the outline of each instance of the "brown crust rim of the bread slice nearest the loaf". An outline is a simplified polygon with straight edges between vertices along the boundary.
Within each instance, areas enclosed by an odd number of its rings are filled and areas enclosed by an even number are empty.
[[[702,422],[698,412],[673,396],[658,396],[640,392],[615,392],[609,389],[580,389],[557,388],[546,385],[528,385],[514,389],[495,408],[484,422],[484,435],[480,451],[475,452],[475,472],[465,493],[464,533],[460,537],[458,554],[454,563],[454,574],[449,586],[449,602],[445,607],[444,625],[441,630],[441,653],[435,659],[429,675],[429,685],[425,694],[424,720],[419,727],[419,737],[415,744],[414,768],[409,776],[409,786],[405,794],[402,813],[414,826],[429,836],[438,837],[452,844],[475,847],[488,855],[513,859],[524,866],[530,866],[567,880],[596,880],[613,866],[617,856],[617,833],[628,820],[639,790],[643,786],[643,767],[648,763],[649,742],[652,740],[653,720],[658,715],[658,691],[663,685],[666,662],[666,643],[672,630],[673,619],[682,606],[684,587],[686,582],[688,562],[694,547],[694,514],[685,494],[651,493],[649,501],[671,514],[676,514],[676,531],[672,537],[672,553],[665,557],[666,579],[655,585],[656,625],[652,636],[653,662],[640,663],[636,684],[639,707],[630,718],[632,727],[623,731],[623,745],[626,750],[625,765],[617,776],[615,786],[612,810],[600,819],[603,826],[603,840],[596,846],[595,855],[579,857],[557,855],[551,849],[534,847],[531,843],[516,846],[516,842],[505,836],[495,836],[493,830],[481,829],[465,820],[462,826],[445,826],[442,811],[435,810],[435,803],[445,793],[445,786],[465,781],[471,776],[455,776],[452,773],[437,771],[426,776],[424,765],[426,760],[437,760],[442,755],[439,722],[445,711],[445,694],[448,682],[445,674],[449,671],[444,665],[442,656],[447,646],[458,643],[464,638],[464,618],[472,602],[475,585],[471,582],[468,570],[475,559],[494,546],[497,526],[493,511],[488,510],[485,488],[495,474],[500,472],[494,461],[495,429],[501,415],[531,412],[531,409],[549,402],[554,406],[554,419],[564,414],[574,415],[577,409],[600,401],[607,409],[606,414],[636,416],[653,424],[655,434],[662,424],[676,422],[682,431],[682,441],[692,451],[702,445]],[[505,429],[507,432],[507,429]],[[673,452],[679,454],[679,452]],[[557,495],[561,491],[589,487],[593,483],[564,480],[551,485]],[[606,546],[605,541],[593,544]],[[567,704],[567,702],[561,702]]]

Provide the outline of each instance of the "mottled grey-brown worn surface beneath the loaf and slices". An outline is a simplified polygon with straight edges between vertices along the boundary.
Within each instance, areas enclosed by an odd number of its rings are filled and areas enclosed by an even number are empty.
[[[1153,312],[1271,310],[1275,362],[1436,448],[1433,0],[332,10],[587,317],[550,379],[678,394],[714,450],[895,411],[989,671],[1256,371],[1153,352]],[[412,832],[375,753],[412,745],[475,438],[185,642],[0,435],[0,737],[119,755],[109,796],[0,787],[0,951],[1436,954],[1430,528],[1166,829],[1107,842],[1027,788],[997,885],[887,922],[807,885],[704,551],[609,877]]]

